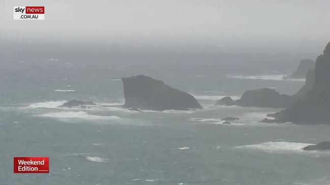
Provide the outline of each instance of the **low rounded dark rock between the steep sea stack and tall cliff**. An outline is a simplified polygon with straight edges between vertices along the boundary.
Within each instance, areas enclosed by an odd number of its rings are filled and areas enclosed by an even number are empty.
[[[232,100],[230,97],[220,99],[215,105],[238,105],[255,107],[285,108],[294,102],[294,98],[286,94],[280,94],[274,89],[262,88],[245,91],[239,100]]]

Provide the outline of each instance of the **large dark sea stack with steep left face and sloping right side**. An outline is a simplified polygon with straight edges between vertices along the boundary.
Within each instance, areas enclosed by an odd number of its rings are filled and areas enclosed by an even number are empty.
[[[174,89],[163,81],[143,75],[123,78],[125,105],[150,110],[188,110],[202,108],[190,94]]]

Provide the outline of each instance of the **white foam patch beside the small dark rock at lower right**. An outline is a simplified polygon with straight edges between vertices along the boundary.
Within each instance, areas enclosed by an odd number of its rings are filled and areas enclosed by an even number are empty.
[[[236,146],[235,149],[256,149],[263,152],[304,152],[302,149],[311,143],[302,142],[264,142],[261,144],[250,144],[244,146]]]

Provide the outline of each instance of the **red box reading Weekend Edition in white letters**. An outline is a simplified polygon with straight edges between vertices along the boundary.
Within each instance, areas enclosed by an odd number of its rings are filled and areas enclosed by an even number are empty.
[[[49,157],[14,157],[14,173],[49,173]]]

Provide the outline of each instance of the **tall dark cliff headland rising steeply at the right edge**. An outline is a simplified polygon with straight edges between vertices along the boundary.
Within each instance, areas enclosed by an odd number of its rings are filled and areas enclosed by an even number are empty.
[[[316,59],[312,90],[274,116],[278,122],[330,124],[330,43]]]

